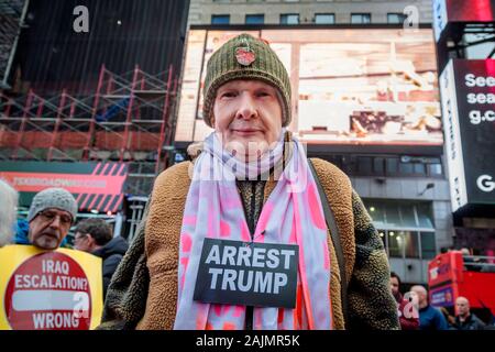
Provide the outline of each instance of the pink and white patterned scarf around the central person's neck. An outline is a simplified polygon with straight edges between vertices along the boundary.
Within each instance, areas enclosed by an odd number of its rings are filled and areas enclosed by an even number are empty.
[[[235,178],[266,173],[283,157],[284,136],[253,165],[237,161],[210,134],[195,163],[183,218],[174,329],[242,330],[245,306],[193,300],[205,238],[299,245],[296,308],[254,307],[254,330],[331,329],[327,226],[302,145],[295,139],[287,165],[251,237]],[[263,235],[262,235],[263,232]],[[253,240],[252,240],[253,239]]]

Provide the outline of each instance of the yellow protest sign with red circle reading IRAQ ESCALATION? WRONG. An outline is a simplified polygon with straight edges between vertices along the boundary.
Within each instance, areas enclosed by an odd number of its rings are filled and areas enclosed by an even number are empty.
[[[101,258],[32,245],[0,249],[1,330],[88,330],[101,319]]]

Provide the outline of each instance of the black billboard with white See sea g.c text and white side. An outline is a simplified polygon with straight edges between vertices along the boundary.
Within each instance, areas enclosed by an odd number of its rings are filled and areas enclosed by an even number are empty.
[[[495,59],[451,59],[440,84],[452,210],[495,205]]]

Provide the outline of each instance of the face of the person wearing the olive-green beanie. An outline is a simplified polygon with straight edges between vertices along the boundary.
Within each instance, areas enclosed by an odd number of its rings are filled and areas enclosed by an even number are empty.
[[[237,157],[260,157],[282,132],[277,90],[260,80],[231,80],[217,91],[213,125]]]

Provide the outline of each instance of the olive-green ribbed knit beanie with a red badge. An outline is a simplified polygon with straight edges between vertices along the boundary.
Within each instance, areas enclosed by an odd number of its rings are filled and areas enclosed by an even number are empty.
[[[213,128],[212,110],[218,88],[233,79],[262,80],[278,89],[282,125],[290,123],[290,80],[287,70],[265,41],[243,33],[223,44],[208,61],[202,105],[206,124]]]

